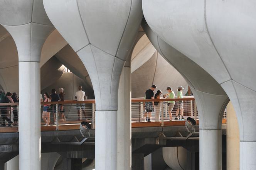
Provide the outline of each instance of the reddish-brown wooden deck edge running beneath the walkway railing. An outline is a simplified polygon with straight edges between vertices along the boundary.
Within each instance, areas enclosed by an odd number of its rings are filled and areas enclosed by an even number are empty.
[[[222,124],[226,124],[227,119],[222,119]],[[78,130],[80,127],[81,121],[66,121],[65,124],[59,125],[59,130]],[[138,127],[161,127],[162,122],[132,122],[132,128]],[[199,121],[197,120],[197,124]],[[164,127],[170,126],[184,126],[185,120],[177,120],[177,121],[164,121]],[[50,126],[41,126],[41,131],[55,131],[56,125]],[[12,133],[18,132],[18,127],[0,127],[0,133]]]

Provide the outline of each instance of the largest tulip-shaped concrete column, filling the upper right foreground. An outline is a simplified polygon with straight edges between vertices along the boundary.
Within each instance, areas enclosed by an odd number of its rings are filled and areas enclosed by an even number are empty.
[[[143,2],[152,30],[212,75],[234,104],[241,170],[256,169],[255,5],[250,0]]]

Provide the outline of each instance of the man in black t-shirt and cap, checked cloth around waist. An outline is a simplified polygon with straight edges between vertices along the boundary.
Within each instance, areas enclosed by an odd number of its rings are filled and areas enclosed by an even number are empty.
[[[145,92],[146,99],[154,99],[154,90],[156,89],[156,85],[152,85],[150,89]],[[147,111],[147,121],[150,121],[151,112],[153,112],[154,102],[145,102],[145,110]]]

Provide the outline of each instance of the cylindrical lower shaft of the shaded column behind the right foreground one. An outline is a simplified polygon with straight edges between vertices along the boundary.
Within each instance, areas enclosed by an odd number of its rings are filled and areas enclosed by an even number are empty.
[[[221,170],[221,129],[200,129],[200,170]]]

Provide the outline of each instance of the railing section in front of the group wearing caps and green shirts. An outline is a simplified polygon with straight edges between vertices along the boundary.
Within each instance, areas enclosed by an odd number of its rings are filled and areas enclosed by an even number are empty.
[[[170,101],[174,101],[171,103]],[[147,112],[148,104],[147,102],[157,103],[152,108],[151,115]],[[152,105],[152,103],[151,103]],[[182,105],[182,107],[181,107]],[[184,97],[184,98],[161,98],[161,99],[142,99],[142,98],[132,98],[131,100],[131,121],[135,122],[146,122],[146,117],[150,118],[150,121],[162,122],[175,120],[175,115],[178,113],[178,120],[181,120],[181,112],[183,109],[183,116],[194,117],[197,119],[198,112],[194,97]]]

